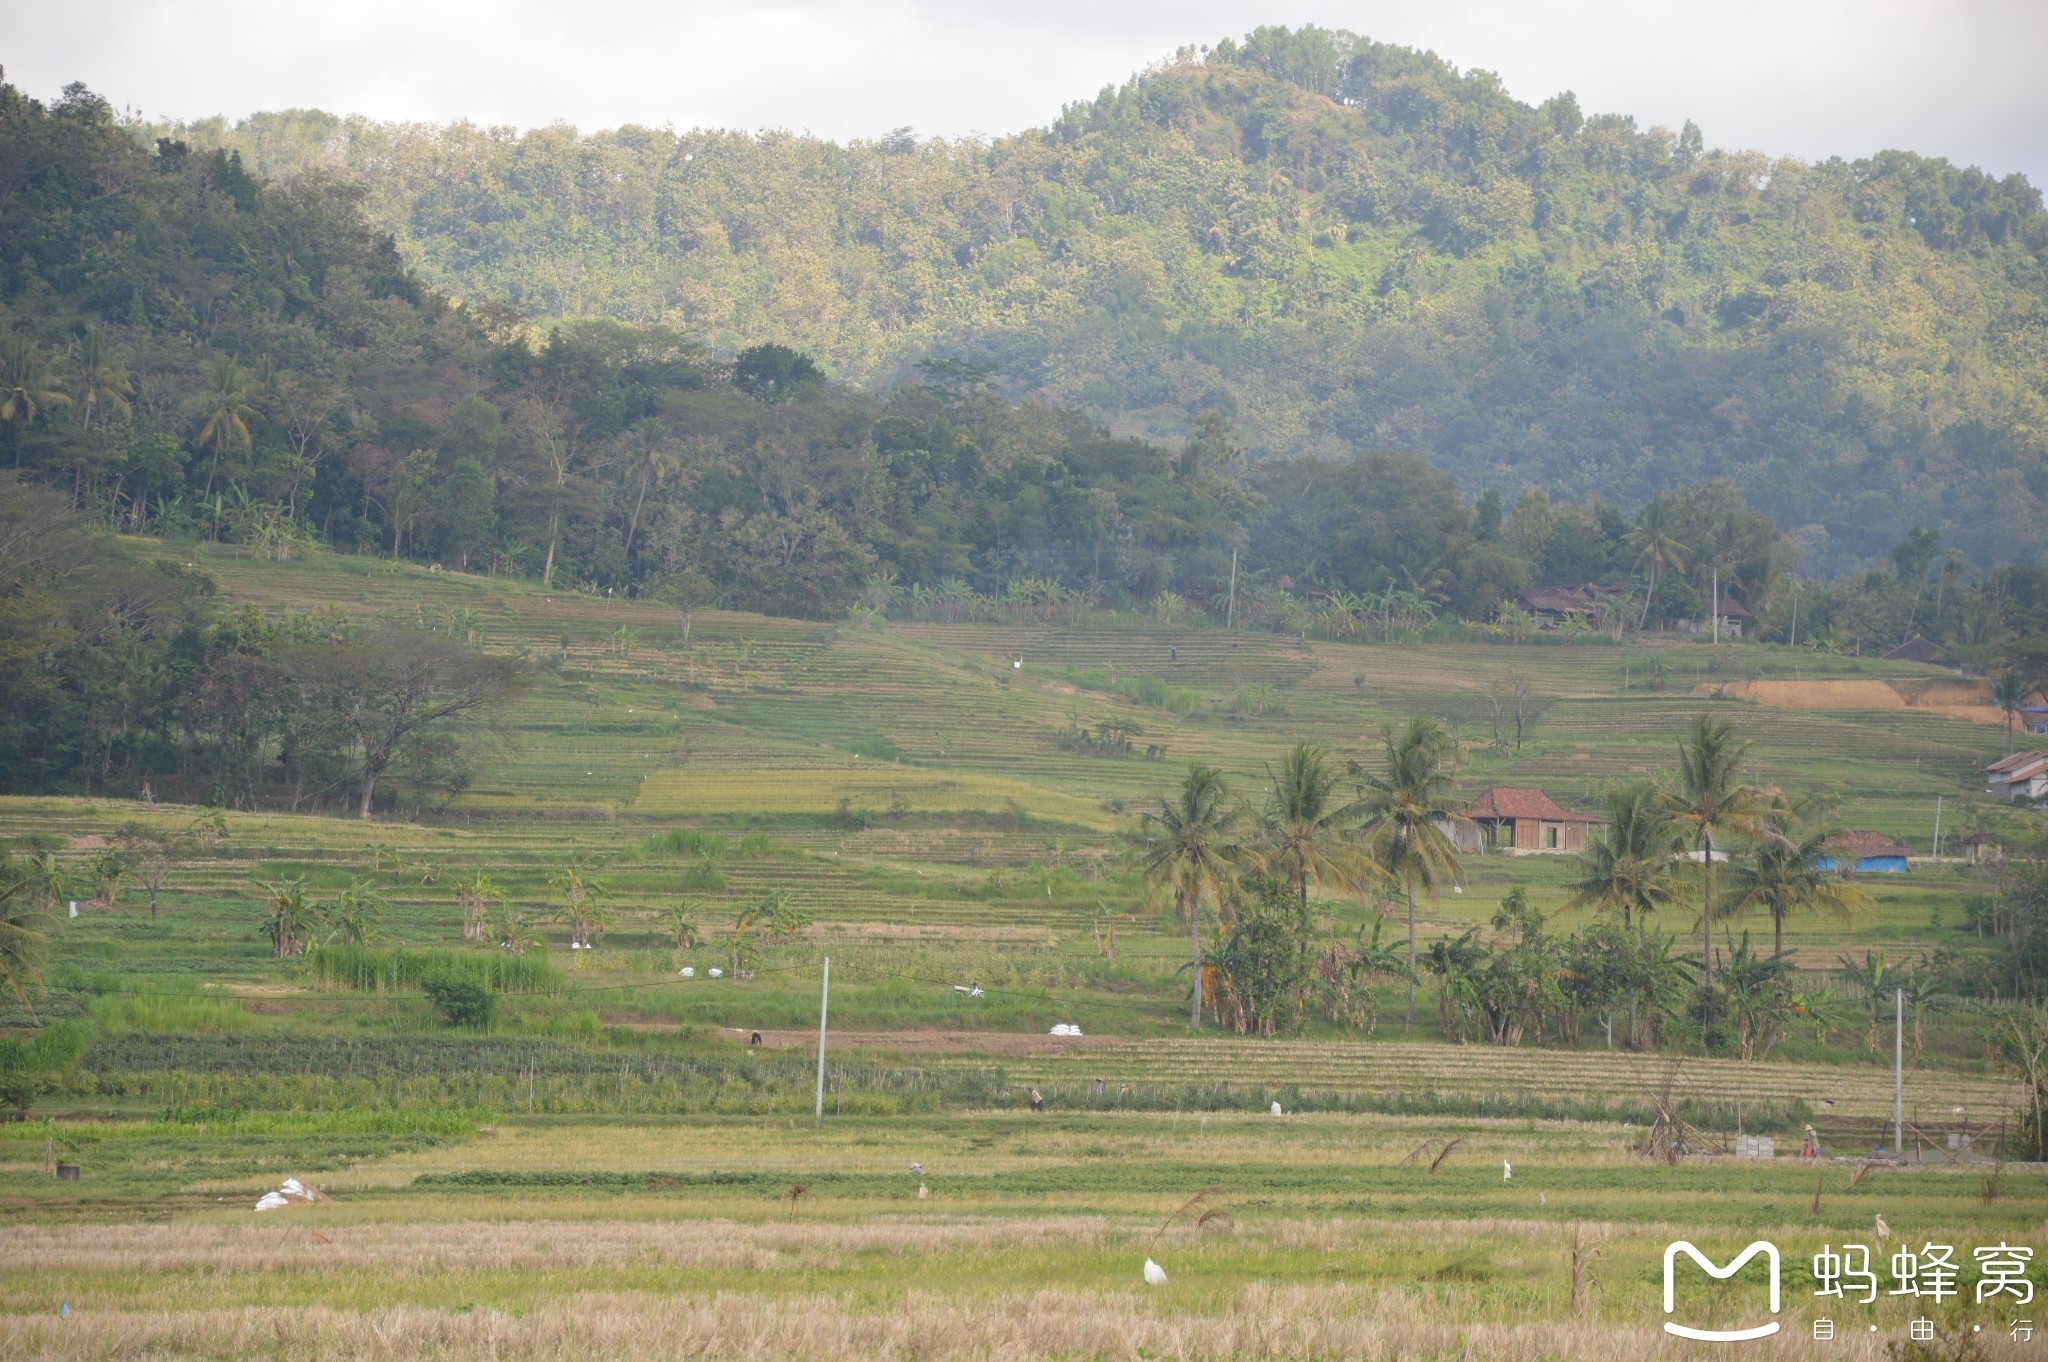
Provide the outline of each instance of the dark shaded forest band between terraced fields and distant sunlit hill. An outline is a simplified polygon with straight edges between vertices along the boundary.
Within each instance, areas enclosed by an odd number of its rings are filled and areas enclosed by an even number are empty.
[[[1149,80],[1229,84],[1257,66]],[[862,391],[782,344],[723,358],[707,348],[723,332],[694,324],[539,338],[422,283],[367,225],[360,186],[262,182],[236,150],[135,133],[84,88],[43,107],[0,84],[0,457],[125,530],[274,557],[326,541],[809,616],[1139,606],[1391,637],[1440,614],[1513,629],[1522,588],[1563,582],[1632,588],[1593,627],[1704,619],[1718,582],[1772,637],[1839,647],[1905,629],[2028,635],[2048,614],[2038,569],[1972,569],[1985,516],[1931,555],[1942,530],[1915,528],[1896,571],[1806,592],[1800,573],[1833,565],[1837,537],[1782,533],[1806,512],[1755,483],[1690,481],[1706,465],[1665,469],[1661,492],[1585,465],[1475,479],[1401,430],[1313,455],[1245,449],[1257,432],[1219,406],[1186,408],[1174,440],[1112,436],[1006,395],[989,363],[928,358]],[[1972,438],[1989,449],[1991,432]],[[1382,444],[1427,455],[1358,453]],[[1446,469],[1495,490],[1473,500]],[[1497,490],[1532,481],[1567,496]]]

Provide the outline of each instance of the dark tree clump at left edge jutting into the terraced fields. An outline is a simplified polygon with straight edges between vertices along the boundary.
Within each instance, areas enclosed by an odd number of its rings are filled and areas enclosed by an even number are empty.
[[[51,487],[0,475],[0,789],[369,817],[469,778],[465,729],[518,662],[338,610],[219,608],[211,580],[129,551]]]

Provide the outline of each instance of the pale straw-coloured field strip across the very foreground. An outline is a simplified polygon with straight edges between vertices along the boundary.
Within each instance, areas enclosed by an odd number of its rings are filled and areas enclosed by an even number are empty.
[[[1823,1313],[1808,1260],[1823,1243],[1868,1243],[1874,1217],[1913,1241],[2038,1237],[2048,1198],[2040,1172],[2007,1172],[1987,1200],[1985,1169],[1855,1182],[1853,1163],[1663,1165],[1632,1153],[1634,1135],[1243,1112],[973,1112],[823,1131],[514,1120],[393,1135],[403,1147],[381,1157],[330,1153],[315,1182],[332,1202],[252,1217],[291,1167],[287,1137],[233,1155],[217,1149],[225,1137],[209,1151],[199,1135],[109,1129],[102,1163],[125,1157],[129,1172],[68,1202],[16,1202],[0,1231],[0,1350],[1663,1358],[1692,1356],[1655,1325],[1663,1245],[1690,1237],[1724,1255],[1769,1237],[1786,1255],[1788,1337],[1757,1356],[1806,1356],[1806,1321]],[[1436,1172],[1409,1157],[1450,1139]],[[143,1149],[123,1155],[123,1143]],[[33,1145],[33,1131],[0,1137],[10,1182],[29,1186]],[[1147,1258],[1165,1286],[1143,1286]],[[70,1319],[53,1315],[59,1301]],[[1737,1311],[1704,1288],[1681,1303],[1714,1323]],[[1903,1337],[1923,1313],[1911,1305],[1837,1305],[1849,1344],[1815,1356],[1884,1356],[1868,1327]],[[1997,1315],[1974,1301],[1925,1313],[1952,1333]]]

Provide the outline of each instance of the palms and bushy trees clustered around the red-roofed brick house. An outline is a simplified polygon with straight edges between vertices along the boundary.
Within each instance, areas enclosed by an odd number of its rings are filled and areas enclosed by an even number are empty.
[[[1311,1006],[1333,1022],[1370,1028],[1374,989],[1405,983],[1405,1024],[1413,1026],[1425,975],[1436,981],[1444,1034],[1491,1045],[1571,1045],[1591,1020],[1610,1045],[1620,1026],[1626,1047],[1681,1034],[1763,1059],[1794,1026],[1825,1038],[1843,1024],[1835,983],[1794,969],[1784,926],[1804,913],[1851,920],[1870,899],[1843,868],[1827,868],[1831,860],[1847,864],[1847,856],[1831,850],[1825,805],[1788,801],[1743,778],[1747,741],[1733,725],[1696,719],[1679,739],[1669,786],[1632,782],[1608,793],[1606,821],[1575,858],[1569,885],[1567,909],[1597,913],[1583,932],[1550,932],[1516,889],[1493,916],[1491,936],[1473,928],[1417,952],[1417,893],[1462,885],[1448,834],[1460,807],[1448,776],[1452,756],[1436,721],[1411,719],[1384,729],[1374,764],[1339,766],[1296,746],[1257,805],[1233,801],[1214,768],[1188,770],[1180,791],[1145,815],[1130,850],[1147,881],[1171,891],[1188,924],[1188,969],[1202,979],[1194,1024],[1206,1002],[1239,1032],[1284,1030]],[[1384,918],[1356,942],[1321,936],[1311,885],[1370,903],[1405,899],[1405,952],[1382,944]],[[2017,905],[1999,920],[1999,930],[2015,934],[2007,997],[2038,997],[2040,905],[2023,889],[2001,901]],[[1655,930],[1673,911],[1696,913],[1698,952],[1681,952],[1677,934]],[[1724,924],[1718,946],[1716,920]],[[1731,920],[1767,920],[1769,952],[1749,930],[1726,934]],[[2034,926],[2013,926],[2021,920]],[[1858,983],[1872,1049],[1894,987],[1913,999],[1915,1053],[1919,1018],[1960,987],[1942,969],[1901,969],[1882,954],[1862,965],[1843,959],[1841,967]]]

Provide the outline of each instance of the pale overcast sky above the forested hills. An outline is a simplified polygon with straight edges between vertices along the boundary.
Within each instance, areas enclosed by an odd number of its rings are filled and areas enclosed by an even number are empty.
[[[1802,158],[1911,147],[2048,184],[2048,0],[100,0],[10,4],[0,61],[150,117],[319,107],[532,127],[1012,133],[1255,25],[1352,29],[1536,102]]]

